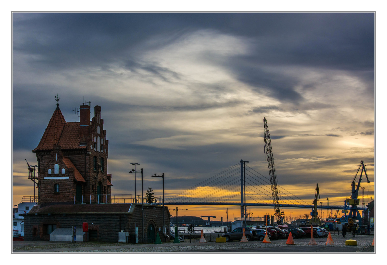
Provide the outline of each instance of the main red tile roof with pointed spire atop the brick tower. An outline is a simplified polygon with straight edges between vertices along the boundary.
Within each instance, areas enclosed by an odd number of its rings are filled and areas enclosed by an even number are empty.
[[[66,122],[59,106],[48,122],[39,145],[32,151],[52,150],[53,145],[60,145],[62,149],[86,148],[79,145],[79,122]]]

